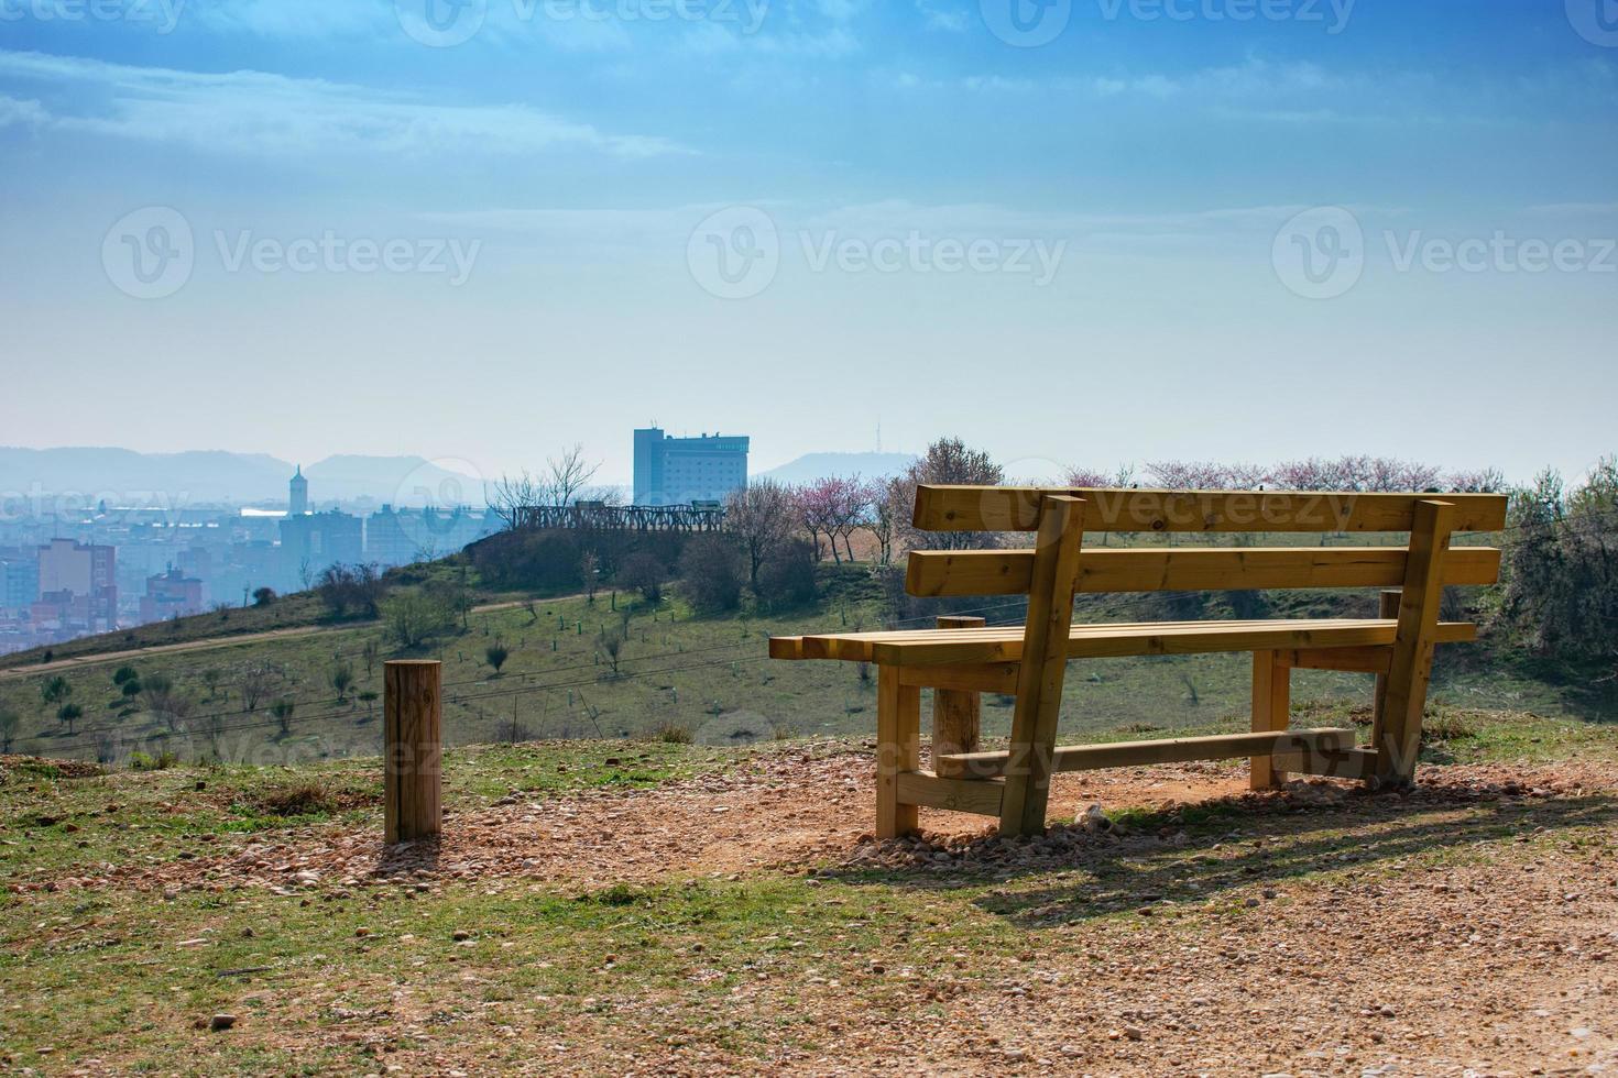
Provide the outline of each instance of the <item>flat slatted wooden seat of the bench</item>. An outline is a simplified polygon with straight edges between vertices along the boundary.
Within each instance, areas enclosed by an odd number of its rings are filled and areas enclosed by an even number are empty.
[[[1382,617],[1078,624],[1068,629],[1068,658],[1391,648],[1396,632],[1398,621]],[[901,667],[1016,663],[1023,658],[1023,625],[1006,625],[772,637],[770,656]],[[1476,638],[1477,625],[1471,622],[1438,622],[1438,643]]]

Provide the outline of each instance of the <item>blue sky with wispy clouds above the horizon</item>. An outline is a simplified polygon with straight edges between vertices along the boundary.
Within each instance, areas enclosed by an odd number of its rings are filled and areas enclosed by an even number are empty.
[[[586,2],[0,0],[0,443],[1618,449],[1613,0]]]

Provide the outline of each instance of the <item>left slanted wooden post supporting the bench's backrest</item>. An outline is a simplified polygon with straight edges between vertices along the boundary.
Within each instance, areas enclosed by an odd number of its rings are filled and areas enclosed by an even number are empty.
[[[1082,541],[1084,499],[1045,495],[1039,511],[1034,580],[1027,592],[1023,659],[1016,674],[1006,792],[1000,800],[1000,834],[1006,837],[1045,831]]]

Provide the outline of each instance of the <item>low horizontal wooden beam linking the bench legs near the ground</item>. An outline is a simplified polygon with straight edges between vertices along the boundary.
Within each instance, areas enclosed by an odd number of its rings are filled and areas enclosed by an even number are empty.
[[[1212,737],[1170,737],[1150,742],[1058,747],[1052,771],[1099,771],[1102,768],[1137,768],[1157,763],[1189,763],[1194,760],[1236,760],[1241,756],[1270,756],[1277,753],[1285,755],[1294,764],[1302,764],[1312,755],[1341,755],[1351,748],[1354,748],[1354,731],[1340,727],[1215,734]],[[1010,755],[1006,750],[953,753],[940,760],[963,768],[966,774],[977,779],[990,779],[1005,774]]]

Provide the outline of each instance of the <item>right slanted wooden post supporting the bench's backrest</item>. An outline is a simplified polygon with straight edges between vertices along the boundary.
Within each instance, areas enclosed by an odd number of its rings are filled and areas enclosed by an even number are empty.
[[[1377,779],[1409,785],[1421,753],[1421,718],[1427,706],[1432,653],[1438,635],[1438,601],[1443,596],[1443,553],[1450,548],[1455,504],[1417,501],[1411,527],[1404,590],[1400,593],[1400,627],[1388,666],[1382,740],[1377,742]]]

